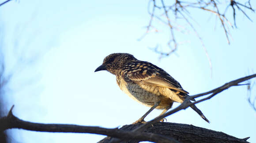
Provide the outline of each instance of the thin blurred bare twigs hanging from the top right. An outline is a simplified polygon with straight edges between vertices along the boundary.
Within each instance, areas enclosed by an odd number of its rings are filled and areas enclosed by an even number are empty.
[[[158,0],[158,1],[160,4],[162,4],[161,7],[156,5],[157,0],[149,0],[150,4],[151,4],[151,2],[153,2],[154,5],[153,5],[152,12],[149,12],[150,17],[151,17],[150,22],[149,22],[149,25],[147,26],[146,33],[142,36],[142,38],[144,38],[151,31],[159,32],[158,27],[162,28],[162,25],[161,26],[153,26],[153,21],[161,21],[163,24],[168,26],[168,29],[170,29],[171,38],[167,42],[167,46],[169,46],[170,50],[159,51],[159,50],[155,49],[154,52],[160,54],[160,57],[162,57],[163,55],[169,56],[170,54],[172,54],[174,51],[177,50],[178,43],[180,43],[176,39],[176,37],[175,37],[176,34],[174,32],[176,32],[176,31],[181,32],[181,33],[183,32],[183,30],[178,30],[179,29],[178,27],[180,26],[178,24],[179,23],[178,20],[184,20],[188,25],[190,25],[190,27],[193,29],[193,31],[196,33],[196,36],[200,40],[200,43],[202,43],[203,49],[204,49],[207,59],[209,61],[210,68],[212,67],[211,59],[207,53],[206,47],[203,44],[203,40],[200,37],[200,34],[194,28],[193,23],[196,23],[196,21],[192,18],[192,16],[190,16],[189,9],[196,8],[196,9],[203,10],[204,12],[209,12],[211,14],[215,14],[218,17],[218,20],[221,22],[221,26],[223,27],[223,31],[225,32],[227,43],[229,43],[229,44],[230,44],[230,39],[232,39],[229,29],[230,29],[230,27],[233,28],[233,25],[231,24],[231,22],[228,20],[228,18],[225,15],[226,11],[228,10],[228,7],[231,6],[233,8],[233,19],[234,19],[235,27],[237,27],[236,18],[235,18],[236,17],[236,9],[238,11],[241,11],[241,13],[244,14],[250,21],[252,21],[252,20],[249,18],[248,14],[246,14],[245,10],[254,12],[254,9],[252,8],[252,6],[250,4],[250,0],[248,0],[245,4],[238,3],[235,0],[230,0],[230,4],[227,5],[224,12],[221,12],[221,10],[219,9],[219,7],[222,7],[222,5],[224,5],[224,3],[220,3],[217,0],[193,0],[192,2],[191,1],[175,0],[175,1],[173,1],[173,4],[169,4],[170,6],[167,6],[165,4],[165,2],[170,3],[170,1],[167,1],[167,0],[166,1]],[[241,7],[245,8],[245,10],[242,10]],[[186,18],[182,12],[187,14],[187,16],[190,19]],[[163,14],[158,14],[158,13],[163,13]],[[171,21],[170,16],[172,16],[172,15],[175,16],[175,20],[177,21],[177,23]],[[186,27],[186,26],[183,26],[183,27]],[[151,28],[152,28],[152,30],[151,30]],[[176,31],[174,31],[174,30],[176,30]],[[188,30],[188,29],[184,28],[184,30]],[[140,38],[140,39],[142,39],[142,38]]]

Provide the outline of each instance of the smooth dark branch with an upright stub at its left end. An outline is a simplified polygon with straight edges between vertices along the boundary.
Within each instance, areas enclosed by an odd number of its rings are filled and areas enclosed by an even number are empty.
[[[8,113],[8,116],[0,118],[0,132],[6,129],[26,129],[30,131],[40,132],[76,132],[76,133],[93,133],[106,136],[113,136],[119,139],[138,139],[141,141],[147,140],[151,142],[161,143],[180,143],[171,137],[162,136],[154,133],[146,132],[129,132],[124,130],[106,129],[93,126],[81,126],[81,125],[68,125],[68,124],[41,124],[23,121],[12,114],[12,108]]]

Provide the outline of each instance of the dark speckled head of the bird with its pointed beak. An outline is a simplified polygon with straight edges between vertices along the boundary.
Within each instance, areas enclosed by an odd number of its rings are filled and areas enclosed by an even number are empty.
[[[96,68],[94,72],[106,70],[114,75],[117,75],[119,70],[128,64],[130,61],[136,60],[132,54],[128,53],[114,53],[104,58],[101,66]]]

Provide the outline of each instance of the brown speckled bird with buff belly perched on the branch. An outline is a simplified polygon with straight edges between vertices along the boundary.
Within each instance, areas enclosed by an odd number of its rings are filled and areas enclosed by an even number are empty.
[[[109,54],[94,72],[98,71],[108,71],[116,75],[117,85],[124,93],[140,104],[151,107],[133,124],[145,123],[144,118],[155,108],[163,110],[160,114],[162,115],[172,107],[173,102],[182,103],[189,97],[181,84],[166,71],[150,62],[139,61],[132,54]],[[190,107],[210,123],[194,104]]]

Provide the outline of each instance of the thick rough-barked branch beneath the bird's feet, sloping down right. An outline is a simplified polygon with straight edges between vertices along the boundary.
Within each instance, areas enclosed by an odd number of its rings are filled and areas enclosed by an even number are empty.
[[[141,123],[135,125],[124,125],[122,130],[132,131],[136,129]],[[223,132],[216,132],[210,129],[204,129],[187,124],[158,122],[153,126],[147,127],[144,132],[158,133],[164,136],[173,137],[181,143],[248,143],[245,139],[238,139],[236,137],[227,135]],[[111,143],[112,137],[105,137],[98,143]],[[128,140],[120,143],[138,143],[138,140]],[[159,143],[159,142],[157,142]]]

